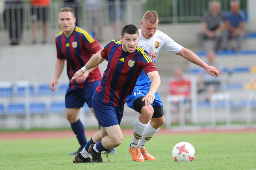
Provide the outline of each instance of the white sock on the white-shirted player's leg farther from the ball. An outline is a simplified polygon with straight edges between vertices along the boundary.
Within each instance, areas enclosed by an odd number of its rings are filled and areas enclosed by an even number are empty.
[[[133,141],[131,143],[131,147],[138,147],[139,143],[140,143],[140,139],[142,138],[146,127],[148,124],[143,124],[139,121],[139,118],[136,119],[136,121],[134,122],[134,126],[133,126]]]

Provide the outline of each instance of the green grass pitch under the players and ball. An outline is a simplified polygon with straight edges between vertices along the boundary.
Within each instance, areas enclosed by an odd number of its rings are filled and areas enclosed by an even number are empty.
[[[0,169],[256,169],[255,133],[156,135],[146,145],[156,160],[141,163],[133,161],[128,152],[131,140],[131,136],[124,136],[123,143],[116,148],[117,154],[109,155],[110,162],[102,154],[104,163],[83,164],[73,164],[74,156],[68,155],[79,147],[75,137],[0,140]],[[172,148],[182,141],[194,146],[194,161],[179,163],[172,160]]]

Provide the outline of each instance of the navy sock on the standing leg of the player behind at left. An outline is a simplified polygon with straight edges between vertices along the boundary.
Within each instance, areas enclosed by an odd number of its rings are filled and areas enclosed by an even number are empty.
[[[84,134],[84,125],[82,124],[80,119],[78,119],[77,122],[71,124],[71,128],[72,128],[73,132],[75,133],[76,138],[77,138],[79,144],[81,145],[81,148],[83,148],[87,144],[87,140],[86,140],[86,137]]]

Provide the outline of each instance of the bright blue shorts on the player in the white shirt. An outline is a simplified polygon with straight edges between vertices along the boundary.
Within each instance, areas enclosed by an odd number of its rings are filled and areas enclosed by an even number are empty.
[[[133,92],[126,98],[127,106],[133,109],[133,102],[139,97],[146,96],[146,94],[148,94],[148,89],[141,90],[138,88],[137,89],[134,88]],[[158,92],[155,94],[154,102],[151,105],[152,106],[154,106],[154,105],[163,106],[163,102],[162,102],[160,96],[158,95]]]

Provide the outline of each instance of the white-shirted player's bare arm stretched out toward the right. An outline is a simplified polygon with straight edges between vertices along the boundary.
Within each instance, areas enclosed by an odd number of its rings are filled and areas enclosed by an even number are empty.
[[[181,51],[177,53],[177,55],[182,56],[183,58],[187,59],[187,61],[190,61],[191,63],[197,64],[200,67],[203,67],[207,73],[211,74],[212,76],[217,77],[219,75],[219,71],[216,67],[209,66],[203,60],[201,60],[194,52],[190,51],[189,49],[186,49],[182,47]]]

